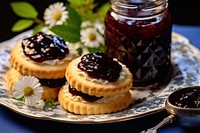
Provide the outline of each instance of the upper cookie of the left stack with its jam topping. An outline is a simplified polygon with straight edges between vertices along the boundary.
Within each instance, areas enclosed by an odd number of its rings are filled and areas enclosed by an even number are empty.
[[[64,78],[69,62],[78,57],[60,37],[39,32],[17,44],[10,57],[13,68],[37,78]]]

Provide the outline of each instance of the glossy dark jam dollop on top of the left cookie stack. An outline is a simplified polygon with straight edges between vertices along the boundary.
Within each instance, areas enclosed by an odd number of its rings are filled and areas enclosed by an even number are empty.
[[[65,41],[58,36],[43,32],[22,41],[23,52],[36,62],[52,59],[63,59],[69,53]]]

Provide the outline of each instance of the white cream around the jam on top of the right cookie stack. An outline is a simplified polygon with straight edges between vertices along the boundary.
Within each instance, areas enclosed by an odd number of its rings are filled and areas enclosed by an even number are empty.
[[[115,59],[115,60],[116,60],[116,59]],[[117,61],[117,60],[116,60],[116,61]],[[77,65],[78,65],[78,64],[77,64]],[[77,66],[77,65],[76,65],[76,66]],[[126,72],[125,72],[125,67],[126,67],[126,66],[123,65],[123,64],[121,64],[121,63],[120,63],[120,65],[122,66],[122,70],[121,70],[121,72],[119,73],[119,78],[117,79],[116,82],[122,82],[122,81],[124,81],[124,80],[126,79],[126,75],[127,75]],[[88,80],[88,81],[91,81],[91,82],[95,82],[95,83],[100,83],[100,84],[103,84],[103,85],[110,83],[108,80],[105,80],[105,79],[90,78],[86,72],[80,70],[78,67],[76,67],[75,69],[76,69],[77,73],[78,73],[82,78],[84,78],[85,80]]]

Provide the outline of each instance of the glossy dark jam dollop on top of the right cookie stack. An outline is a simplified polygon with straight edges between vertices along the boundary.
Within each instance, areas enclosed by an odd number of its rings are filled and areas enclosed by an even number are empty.
[[[85,71],[91,78],[101,78],[109,82],[117,81],[122,70],[122,66],[117,61],[101,52],[84,55],[78,68]]]

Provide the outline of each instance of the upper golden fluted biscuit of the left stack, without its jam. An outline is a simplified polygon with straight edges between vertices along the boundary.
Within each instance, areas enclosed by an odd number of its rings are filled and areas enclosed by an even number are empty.
[[[37,78],[57,79],[65,77],[65,70],[69,62],[78,57],[76,50],[70,47],[71,59],[64,60],[62,64],[45,64],[34,62],[23,53],[21,43],[17,44],[11,51],[10,62],[13,68],[23,75],[31,75]]]

